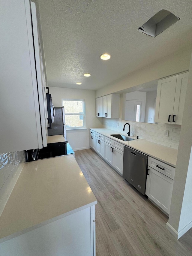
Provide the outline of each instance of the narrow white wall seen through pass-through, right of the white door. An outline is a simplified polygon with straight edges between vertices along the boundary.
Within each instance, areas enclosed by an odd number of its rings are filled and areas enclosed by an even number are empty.
[[[157,91],[147,92],[146,95],[146,107],[145,107],[145,122],[154,124],[155,114],[155,98],[157,97]],[[151,121],[149,121],[151,118]]]

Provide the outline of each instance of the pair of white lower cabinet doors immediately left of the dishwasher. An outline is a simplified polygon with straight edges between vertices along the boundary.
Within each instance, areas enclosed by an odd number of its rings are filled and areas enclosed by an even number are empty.
[[[105,142],[105,160],[123,174],[123,151]]]

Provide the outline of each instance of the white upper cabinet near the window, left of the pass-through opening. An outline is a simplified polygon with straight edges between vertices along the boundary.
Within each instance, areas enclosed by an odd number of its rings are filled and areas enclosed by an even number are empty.
[[[96,116],[119,118],[120,95],[109,94],[96,98]]]

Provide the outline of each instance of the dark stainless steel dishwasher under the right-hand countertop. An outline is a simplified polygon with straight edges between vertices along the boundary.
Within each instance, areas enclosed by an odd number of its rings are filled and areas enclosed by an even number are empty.
[[[123,177],[145,195],[148,155],[124,146]]]

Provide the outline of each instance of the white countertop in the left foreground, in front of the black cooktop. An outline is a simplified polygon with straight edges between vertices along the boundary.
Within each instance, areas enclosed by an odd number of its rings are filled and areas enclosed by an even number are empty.
[[[0,242],[96,203],[72,155],[26,163],[0,217]]]

